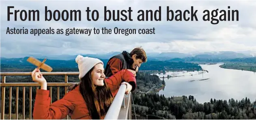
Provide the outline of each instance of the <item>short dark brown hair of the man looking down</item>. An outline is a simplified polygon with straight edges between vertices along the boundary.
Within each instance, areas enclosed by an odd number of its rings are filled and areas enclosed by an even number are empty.
[[[146,62],[147,61],[147,57],[146,57],[146,52],[143,50],[142,47],[137,47],[137,48],[134,48],[131,52],[130,52],[130,55],[133,56],[133,55],[137,55],[136,56],[136,59],[141,59],[142,62]]]

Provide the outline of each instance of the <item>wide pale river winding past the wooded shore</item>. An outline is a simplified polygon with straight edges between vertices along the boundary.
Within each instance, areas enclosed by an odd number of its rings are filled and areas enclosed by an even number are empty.
[[[203,69],[209,71],[209,73],[204,72],[203,74],[199,74],[199,72],[156,74],[159,77],[179,76],[164,78],[166,86],[159,91],[159,95],[163,94],[165,97],[193,95],[199,103],[209,102],[211,98],[226,99],[227,101],[233,98],[239,101],[247,97],[250,101],[256,100],[256,73],[224,69],[219,65],[222,64],[201,65]]]

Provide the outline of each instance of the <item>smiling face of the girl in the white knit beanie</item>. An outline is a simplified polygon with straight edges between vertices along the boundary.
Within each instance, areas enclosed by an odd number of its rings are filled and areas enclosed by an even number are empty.
[[[101,63],[98,63],[97,65],[94,66],[94,69],[92,71],[92,80],[93,84],[95,86],[104,86],[104,79],[105,79],[105,74],[104,74],[104,67]]]

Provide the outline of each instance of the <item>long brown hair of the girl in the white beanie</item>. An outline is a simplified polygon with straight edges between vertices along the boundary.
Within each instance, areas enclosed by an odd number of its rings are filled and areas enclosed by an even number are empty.
[[[101,116],[105,116],[114,97],[111,94],[110,89],[104,80],[104,86],[95,86],[92,80],[92,71],[90,71],[81,78],[80,81],[80,93],[82,94],[87,109],[89,110],[92,119],[100,119]]]

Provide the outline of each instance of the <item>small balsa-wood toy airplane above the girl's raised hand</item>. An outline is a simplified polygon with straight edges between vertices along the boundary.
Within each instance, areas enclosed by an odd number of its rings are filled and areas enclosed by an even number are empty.
[[[51,72],[52,71],[52,67],[50,67],[49,65],[45,64],[46,58],[43,60],[43,62],[39,61],[38,59],[35,59],[34,57],[29,57],[27,59],[28,62],[32,63],[33,65],[36,65],[38,67],[38,69],[43,69],[47,72]]]

